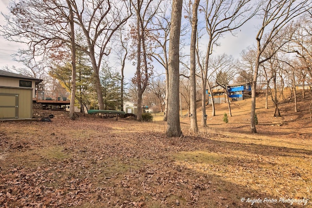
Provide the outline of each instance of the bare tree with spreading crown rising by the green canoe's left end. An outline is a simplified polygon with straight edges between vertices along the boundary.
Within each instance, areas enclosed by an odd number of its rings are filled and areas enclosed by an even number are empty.
[[[84,0],[77,2],[70,0],[75,13],[75,23],[83,33],[87,48],[82,47],[90,57],[93,67],[93,76],[98,95],[99,109],[104,109],[102,86],[99,79],[99,70],[104,56],[111,51],[110,41],[114,33],[132,15],[128,1],[115,0]]]

